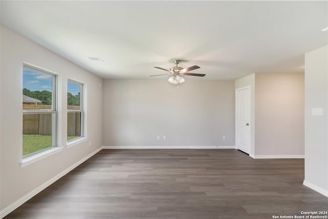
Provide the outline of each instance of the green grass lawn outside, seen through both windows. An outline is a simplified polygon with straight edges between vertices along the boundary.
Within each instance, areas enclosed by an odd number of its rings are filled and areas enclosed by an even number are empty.
[[[68,136],[70,141],[79,136]],[[51,147],[51,135],[23,134],[23,156]]]

